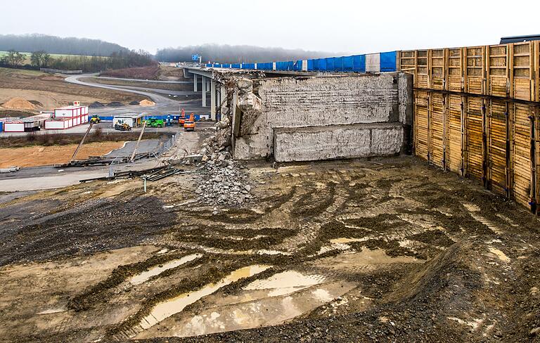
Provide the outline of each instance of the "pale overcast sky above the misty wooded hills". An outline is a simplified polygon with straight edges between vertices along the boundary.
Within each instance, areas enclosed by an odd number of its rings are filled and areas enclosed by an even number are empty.
[[[205,43],[371,53],[540,34],[538,0],[25,0],[2,1],[1,11],[1,34],[96,38],[150,53]]]

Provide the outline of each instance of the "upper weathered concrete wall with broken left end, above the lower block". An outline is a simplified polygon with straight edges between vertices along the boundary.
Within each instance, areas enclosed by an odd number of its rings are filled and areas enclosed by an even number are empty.
[[[412,96],[407,89],[411,86],[410,78],[403,73],[383,73],[262,79],[254,87],[262,104],[260,108],[259,101],[245,96],[250,87],[241,84],[237,92],[238,107],[250,110],[243,110],[238,120],[233,120],[236,124],[233,157],[250,160],[271,155],[276,128],[378,122],[410,124]]]

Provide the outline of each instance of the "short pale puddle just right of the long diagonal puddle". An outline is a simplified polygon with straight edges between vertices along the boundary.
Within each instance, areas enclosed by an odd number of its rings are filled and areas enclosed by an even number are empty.
[[[319,274],[304,275],[297,271],[283,271],[263,280],[255,280],[245,286],[244,290],[271,290],[268,296],[277,297],[319,285],[324,280],[326,277]]]

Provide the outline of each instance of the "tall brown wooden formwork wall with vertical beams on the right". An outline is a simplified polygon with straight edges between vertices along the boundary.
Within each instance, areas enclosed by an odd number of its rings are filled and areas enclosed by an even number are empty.
[[[416,155],[540,212],[540,42],[399,51]]]

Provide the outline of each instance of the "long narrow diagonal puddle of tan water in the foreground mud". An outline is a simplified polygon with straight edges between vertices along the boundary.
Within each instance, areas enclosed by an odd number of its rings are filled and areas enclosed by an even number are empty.
[[[268,268],[270,268],[270,266],[255,265],[243,267],[237,269],[236,271],[233,271],[229,274],[229,276],[226,276],[226,278],[220,280],[218,283],[210,283],[209,285],[206,285],[200,290],[184,293],[177,297],[171,298],[166,302],[160,302],[153,307],[152,311],[150,311],[150,314],[144,317],[141,323],[139,323],[139,325],[143,330],[147,330],[153,325],[160,323],[160,321],[163,321],[165,318],[169,318],[175,313],[179,313],[186,306],[198,301],[198,299],[206,297],[207,295],[211,295],[212,293],[219,290],[219,288],[236,282],[241,278],[249,278],[250,276],[254,276],[255,274],[261,273]]]

